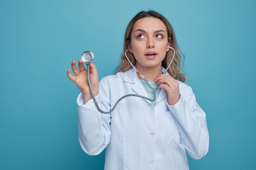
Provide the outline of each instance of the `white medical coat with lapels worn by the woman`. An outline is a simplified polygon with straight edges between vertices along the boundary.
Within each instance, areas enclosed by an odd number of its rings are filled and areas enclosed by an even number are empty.
[[[111,114],[100,113],[92,99],[84,105],[81,93],[77,99],[81,148],[88,155],[106,148],[105,170],[188,170],[186,153],[194,159],[204,157],[209,132],[191,87],[179,82],[179,88],[180,100],[173,106],[161,89],[155,107],[146,99],[126,97]],[[103,77],[96,99],[108,111],[127,94],[147,96],[133,68]]]

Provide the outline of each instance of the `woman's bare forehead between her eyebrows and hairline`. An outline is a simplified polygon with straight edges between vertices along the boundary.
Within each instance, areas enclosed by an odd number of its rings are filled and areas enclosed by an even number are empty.
[[[164,30],[167,31],[167,28],[162,22],[162,20],[155,18],[155,17],[146,17],[146,18],[141,18],[135,22],[133,25],[133,31],[136,31],[137,29],[142,29],[142,30]]]

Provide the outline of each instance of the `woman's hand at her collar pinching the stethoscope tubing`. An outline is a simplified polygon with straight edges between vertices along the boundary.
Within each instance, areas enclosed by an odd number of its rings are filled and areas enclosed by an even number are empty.
[[[168,104],[175,105],[180,100],[179,82],[170,75],[160,74],[154,79],[159,88],[164,88],[168,97]]]

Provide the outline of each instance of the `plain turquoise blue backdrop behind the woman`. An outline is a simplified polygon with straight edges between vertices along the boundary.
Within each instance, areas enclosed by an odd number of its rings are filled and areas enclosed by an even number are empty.
[[[256,0],[1,0],[0,169],[103,170],[79,146],[66,75],[83,51],[112,73],[124,31],[141,10],[173,25],[184,71],[207,113],[208,154],[191,170],[256,170]]]

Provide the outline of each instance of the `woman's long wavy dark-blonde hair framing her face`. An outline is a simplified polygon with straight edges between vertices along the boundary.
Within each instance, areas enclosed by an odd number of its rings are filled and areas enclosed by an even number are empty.
[[[120,58],[120,63],[119,63],[119,66],[117,66],[115,68],[114,74],[116,74],[118,72],[127,71],[129,68],[132,67],[126,59],[125,51],[128,49],[128,45],[131,42],[131,34],[132,34],[133,25],[135,24],[135,22],[137,20],[139,20],[141,18],[146,18],[146,17],[158,18],[158,19],[162,20],[162,22],[164,22],[166,29],[167,29],[168,37],[171,38],[170,46],[175,50],[175,56],[174,56],[171,66],[168,68],[168,72],[173,78],[175,78],[181,82],[185,82],[186,74],[182,71],[184,55],[180,51],[180,49],[177,45],[173,28],[172,28],[171,24],[168,22],[168,20],[163,15],[157,13],[156,11],[141,11],[137,15],[135,15],[135,17],[132,18],[132,20],[129,22],[129,24],[126,28],[125,36],[124,36],[124,49],[123,49],[123,52],[122,52],[122,55]],[[127,54],[127,57],[129,58],[130,62],[133,65],[135,65],[136,60],[135,60],[134,55],[130,52],[127,52],[126,54]],[[166,52],[166,56],[165,56],[164,60],[162,61],[162,66],[164,68],[168,67],[168,65],[171,62],[172,57],[173,57],[173,50],[170,49]],[[183,72],[184,74],[181,72]]]

